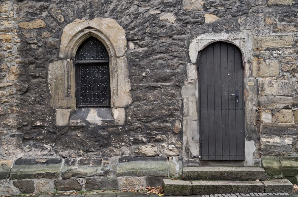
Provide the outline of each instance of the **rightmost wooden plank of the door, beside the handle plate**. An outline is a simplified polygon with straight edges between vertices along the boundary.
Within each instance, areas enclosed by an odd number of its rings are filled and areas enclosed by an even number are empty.
[[[235,90],[239,90],[239,105],[236,106],[236,150],[237,160],[244,160],[244,116],[243,116],[243,67],[240,50],[235,48]]]

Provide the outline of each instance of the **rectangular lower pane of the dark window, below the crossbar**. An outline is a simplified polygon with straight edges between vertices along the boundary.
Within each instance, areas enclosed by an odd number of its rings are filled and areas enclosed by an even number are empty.
[[[77,63],[78,107],[109,106],[109,66],[107,63]]]

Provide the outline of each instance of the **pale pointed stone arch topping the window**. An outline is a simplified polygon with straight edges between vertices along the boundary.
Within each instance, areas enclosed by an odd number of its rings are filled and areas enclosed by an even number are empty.
[[[59,57],[72,58],[80,44],[90,36],[96,37],[105,45],[110,57],[122,57],[127,50],[125,30],[114,19],[75,19],[63,29]]]

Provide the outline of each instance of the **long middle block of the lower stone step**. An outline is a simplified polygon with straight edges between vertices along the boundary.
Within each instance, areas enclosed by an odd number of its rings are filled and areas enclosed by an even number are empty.
[[[263,193],[260,181],[192,181],[193,195],[226,193]]]

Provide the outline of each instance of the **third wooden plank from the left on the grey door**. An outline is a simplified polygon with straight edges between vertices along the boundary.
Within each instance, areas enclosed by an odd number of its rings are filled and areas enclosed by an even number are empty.
[[[214,44],[214,108],[215,108],[215,157],[223,159],[221,127],[221,46]]]

